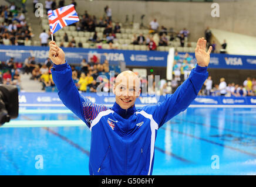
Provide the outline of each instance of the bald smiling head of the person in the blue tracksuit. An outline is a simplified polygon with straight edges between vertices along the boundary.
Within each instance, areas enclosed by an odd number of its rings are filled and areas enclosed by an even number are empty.
[[[117,75],[113,93],[116,95],[116,103],[122,109],[132,107],[140,95],[140,79],[132,71],[123,71]]]

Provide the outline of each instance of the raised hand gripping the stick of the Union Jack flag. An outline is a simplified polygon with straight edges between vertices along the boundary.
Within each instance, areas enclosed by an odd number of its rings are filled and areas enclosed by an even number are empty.
[[[65,53],[62,49],[60,49],[55,41],[49,42],[50,50],[49,50],[49,58],[56,65],[65,64]]]

